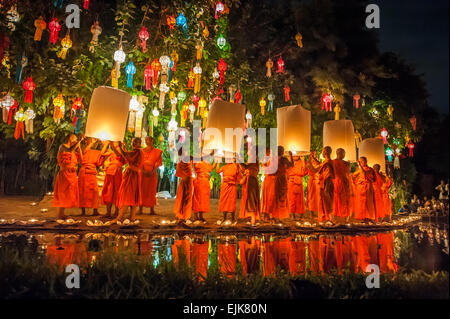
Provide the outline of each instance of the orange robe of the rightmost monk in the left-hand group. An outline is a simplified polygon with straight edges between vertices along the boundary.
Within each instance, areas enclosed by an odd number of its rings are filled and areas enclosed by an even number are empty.
[[[142,150],[142,169],[152,171],[162,165],[162,151],[153,148],[150,151]],[[141,202],[140,206],[154,207],[156,205],[156,188],[158,186],[158,173],[146,175],[144,171],[141,173]]]

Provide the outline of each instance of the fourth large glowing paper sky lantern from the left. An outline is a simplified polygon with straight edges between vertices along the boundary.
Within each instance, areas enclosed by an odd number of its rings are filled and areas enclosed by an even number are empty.
[[[323,146],[332,148],[331,159],[336,158],[336,150],[345,150],[346,161],[356,161],[355,130],[350,120],[326,121],[323,124]]]

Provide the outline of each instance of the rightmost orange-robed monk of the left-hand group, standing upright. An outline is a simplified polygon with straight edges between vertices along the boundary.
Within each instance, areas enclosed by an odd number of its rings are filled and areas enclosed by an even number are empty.
[[[150,207],[150,215],[155,215],[156,188],[158,186],[158,167],[162,165],[162,151],[153,147],[153,137],[145,138],[147,147],[142,150],[142,174],[140,184],[139,214],[144,207]]]

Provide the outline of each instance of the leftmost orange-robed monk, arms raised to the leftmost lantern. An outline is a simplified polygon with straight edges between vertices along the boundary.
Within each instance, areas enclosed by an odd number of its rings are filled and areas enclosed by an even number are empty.
[[[78,207],[79,205],[78,160],[75,149],[79,148],[82,140],[77,141],[76,135],[70,134],[58,150],[59,172],[56,176],[52,206],[56,207],[59,219],[65,218],[65,208]]]

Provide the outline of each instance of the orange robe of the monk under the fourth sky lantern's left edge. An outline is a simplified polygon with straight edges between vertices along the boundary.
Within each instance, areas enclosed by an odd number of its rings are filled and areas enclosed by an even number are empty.
[[[334,168],[331,160],[325,160],[319,166],[319,215],[318,221],[326,221],[333,213],[334,206]]]

